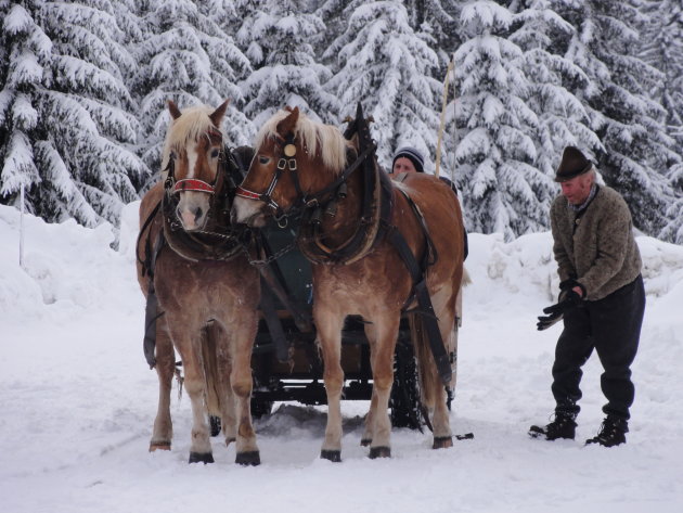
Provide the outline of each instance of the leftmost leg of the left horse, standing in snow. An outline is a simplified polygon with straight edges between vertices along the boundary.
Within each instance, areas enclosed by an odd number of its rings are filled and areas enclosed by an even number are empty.
[[[156,321],[156,374],[159,381],[159,400],[154,419],[150,452],[170,450],[173,424],[170,416],[170,393],[176,371],[176,352],[168,334],[166,319]]]

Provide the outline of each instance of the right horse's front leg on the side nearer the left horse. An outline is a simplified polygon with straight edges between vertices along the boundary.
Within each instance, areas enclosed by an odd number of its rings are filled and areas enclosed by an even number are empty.
[[[342,369],[342,328],[344,316],[325,310],[322,299],[313,303],[313,316],[320,348],[322,350],[327,395],[327,425],[325,440],[320,457],[339,462],[342,461],[342,392],[344,389],[344,370]]]

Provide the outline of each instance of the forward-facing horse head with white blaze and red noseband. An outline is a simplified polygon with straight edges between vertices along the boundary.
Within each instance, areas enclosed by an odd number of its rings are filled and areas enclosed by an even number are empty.
[[[220,179],[223,151],[220,125],[229,101],[218,108],[196,106],[180,112],[172,101],[168,110],[172,121],[166,136],[164,169],[177,195],[176,215],[185,231],[202,230]]]

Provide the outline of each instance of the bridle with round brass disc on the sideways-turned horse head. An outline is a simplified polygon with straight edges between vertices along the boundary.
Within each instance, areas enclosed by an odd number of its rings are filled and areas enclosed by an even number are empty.
[[[268,207],[273,210],[273,218],[278,226],[281,228],[285,228],[287,226],[287,218],[297,214],[307,208],[315,208],[319,205],[325,204],[328,200],[333,197],[346,197],[346,181],[356,169],[360,167],[362,162],[375,150],[375,145],[372,144],[363,153],[361,153],[358,158],[348,166],[332,183],[323,188],[321,191],[307,194],[301,189],[301,183],[299,182],[298,177],[298,166],[296,164],[296,145],[295,145],[295,137],[289,133],[286,138],[281,137],[280,134],[275,134],[278,138],[278,144],[282,148],[282,156],[278,161],[278,166],[275,168],[275,172],[273,174],[273,178],[270,183],[266,188],[266,191],[262,193],[258,193],[255,191],[249,191],[248,189],[243,188],[242,185],[237,187],[235,192],[236,196],[244,197],[246,200],[260,201],[266,203]],[[257,155],[254,156],[256,158]],[[294,204],[287,209],[284,210],[275,200],[272,197],[272,193],[278,187],[278,182],[282,178],[285,170],[289,170],[292,172],[292,179],[294,181],[294,188],[296,189],[296,201]],[[248,175],[247,175],[248,176]]]

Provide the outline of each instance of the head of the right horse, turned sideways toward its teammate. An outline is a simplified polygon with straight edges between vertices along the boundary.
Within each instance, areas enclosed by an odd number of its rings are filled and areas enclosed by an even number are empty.
[[[240,185],[231,222],[263,226],[307,206],[346,165],[347,141],[335,127],[309,119],[298,107],[273,115],[259,130],[249,170]]]

